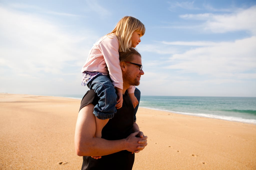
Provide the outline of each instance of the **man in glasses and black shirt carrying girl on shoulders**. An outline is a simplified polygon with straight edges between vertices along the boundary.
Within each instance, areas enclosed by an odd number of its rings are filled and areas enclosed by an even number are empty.
[[[147,136],[136,124],[134,106],[126,90],[140,84],[144,74],[141,55],[133,48],[120,53],[123,75],[123,106],[102,129],[102,138],[95,138],[94,105],[99,98],[89,90],[81,102],[75,131],[75,148],[83,156],[82,169],[132,169],[134,153],[147,146]],[[91,156],[94,156],[94,159]],[[100,158],[100,159],[98,159]]]

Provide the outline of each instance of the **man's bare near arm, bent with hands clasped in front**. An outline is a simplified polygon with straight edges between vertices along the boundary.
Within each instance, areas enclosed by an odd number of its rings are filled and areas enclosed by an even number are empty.
[[[78,113],[75,130],[75,149],[78,156],[103,156],[122,150],[139,152],[145,148],[146,137],[135,137],[139,132],[132,133],[126,139],[121,140],[94,138],[96,125],[95,116],[92,113],[93,108],[93,104],[88,104]]]

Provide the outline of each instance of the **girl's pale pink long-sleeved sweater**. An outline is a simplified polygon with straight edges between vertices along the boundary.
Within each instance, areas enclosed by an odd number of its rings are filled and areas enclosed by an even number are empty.
[[[113,86],[123,89],[122,70],[118,51],[118,38],[114,34],[103,36],[93,44],[81,71],[108,73]],[[134,93],[134,89],[135,86],[131,86],[128,89],[128,93]]]

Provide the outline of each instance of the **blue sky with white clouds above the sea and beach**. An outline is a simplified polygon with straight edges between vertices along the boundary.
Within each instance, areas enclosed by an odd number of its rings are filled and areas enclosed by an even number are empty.
[[[0,0],[0,93],[83,95],[81,68],[124,16],[150,96],[256,97],[256,1]]]

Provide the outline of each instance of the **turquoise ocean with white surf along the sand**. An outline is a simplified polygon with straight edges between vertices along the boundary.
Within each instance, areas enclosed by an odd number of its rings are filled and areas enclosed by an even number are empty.
[[[256,124],[256,97],[141,96],[139,107]]]

